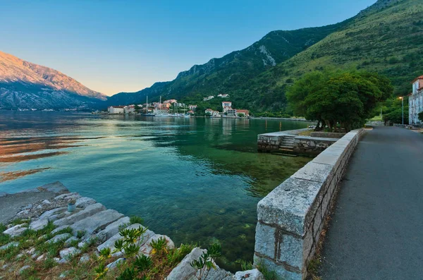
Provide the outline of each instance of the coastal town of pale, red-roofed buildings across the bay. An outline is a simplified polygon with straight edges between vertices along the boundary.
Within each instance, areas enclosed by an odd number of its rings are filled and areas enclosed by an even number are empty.
[[[228,98],[229,95],[219,94],[217,97]],[[214,99],[214,96],[204,97],[203,101]],[[138,114],[145,116],[207,116],[210,118],[249,118],[250,111],[247,109],[235,109],[230,101],[221,102],[221,111],[214,109],[205,109],[199,111],[197,104],[188,104],[178,102],[176,99],[168,99],[164,102],[152,102],[145,104],[130,104],[126,106],[109,106],[107,114]]]

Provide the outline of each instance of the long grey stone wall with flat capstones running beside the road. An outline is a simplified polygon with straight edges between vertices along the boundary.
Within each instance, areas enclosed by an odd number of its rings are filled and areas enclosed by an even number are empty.
[[[336,187],[363,132],[346,134],[260,200],[255,264],[279,279],[305,279]]]

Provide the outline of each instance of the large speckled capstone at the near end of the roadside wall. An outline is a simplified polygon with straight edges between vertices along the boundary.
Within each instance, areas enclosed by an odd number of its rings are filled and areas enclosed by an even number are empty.
[[[306,215],[313,204],[321,183],[288,178],[266,195],[257,205],[259,221],[276,224],[298,236],[305,234]]]

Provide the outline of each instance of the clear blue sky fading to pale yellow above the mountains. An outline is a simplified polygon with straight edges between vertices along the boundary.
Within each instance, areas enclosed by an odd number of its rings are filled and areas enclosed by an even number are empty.
[[[0,0],[0,51],[106,95],[135,92],[272,30],[338,23],[376,0]]]

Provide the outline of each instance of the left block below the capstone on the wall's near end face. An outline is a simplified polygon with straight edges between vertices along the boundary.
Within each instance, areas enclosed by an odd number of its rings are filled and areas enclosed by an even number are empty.
[[[257,223],[255,235],[255,252],[275,259],[276,228]]]

